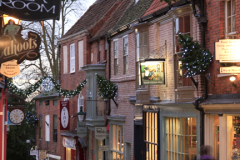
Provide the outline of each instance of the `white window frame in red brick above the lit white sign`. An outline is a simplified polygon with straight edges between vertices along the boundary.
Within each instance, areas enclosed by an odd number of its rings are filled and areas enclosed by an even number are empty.
[[[231,15],[228,16],[228,2],[230,2],[230,5],[231,5],[231,11],[232,11],[232,2],[235,1],[235,14],[233,13],[230,13]],[[233,22],[233,18],[235,18],[235,30],[231,30],[230,32],[228,32],[228,18],[231,18],[231,29],[232,29],[232,22]],[[236,0],[226,0],[225,1],[225,32],[226,32],[226,35],[233,35],[233,34],[236,34]],[[228,38],[228,37],[227,37]]]

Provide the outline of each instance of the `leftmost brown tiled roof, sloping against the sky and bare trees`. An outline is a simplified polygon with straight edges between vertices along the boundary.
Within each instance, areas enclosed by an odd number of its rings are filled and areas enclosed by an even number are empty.
[[[94,25],[104,17],[104,15],[114,6],[115,3],[117,3],[116,0],[97,0],[67,31],[63,38],[82,30],[89,30],[94,27]]]

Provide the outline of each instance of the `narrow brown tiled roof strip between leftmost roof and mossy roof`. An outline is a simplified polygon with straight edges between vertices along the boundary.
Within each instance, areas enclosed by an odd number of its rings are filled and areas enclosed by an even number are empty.
[[[133,2],[134,1],[132,1],[132,0],[122,0],[122,3],[115,10],[115,12],[111,15],[111,17],[108,19],[108,21],[104,23],[103,27],[97,32],[97,34],[95,34],[95,36],[92,38],[92,40],[107,34],[108,31],[111,30],[114,27],[114,25],[117,23],[117,21],[121,18],[121,16],[124,14],[125,10]]]

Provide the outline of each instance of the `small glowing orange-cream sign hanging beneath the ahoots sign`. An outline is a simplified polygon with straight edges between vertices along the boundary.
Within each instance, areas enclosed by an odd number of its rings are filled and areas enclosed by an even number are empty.
[[[8,78],[20,74],[20,67],[17,60],[11,60],[1,64],[0,73]]]

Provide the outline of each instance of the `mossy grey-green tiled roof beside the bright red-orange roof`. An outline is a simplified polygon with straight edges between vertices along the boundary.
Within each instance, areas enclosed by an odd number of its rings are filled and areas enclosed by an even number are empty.
[[[132,4],[117,22],[117,24],[109,32],[114,32],[117,29],[141,18],[142,15],[147,11],[153,0],[139,0],[137,4]],[[160,1],[160,0],[159,0]]]

